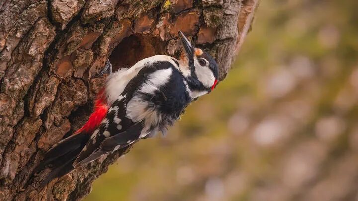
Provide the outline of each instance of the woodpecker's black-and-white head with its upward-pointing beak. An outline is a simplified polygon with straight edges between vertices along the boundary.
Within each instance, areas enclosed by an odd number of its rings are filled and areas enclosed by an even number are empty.
[[[181,31],[178,33],[186,52],[189,73],[185,77],[190,89],[199,96],[211,92],[218,82],[218,64],[210,54],[195,48]]]

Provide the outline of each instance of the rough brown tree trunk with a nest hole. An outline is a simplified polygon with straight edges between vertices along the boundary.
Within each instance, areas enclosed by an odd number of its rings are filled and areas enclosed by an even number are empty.
[[[227,74],[259,0],[3,0],[0,2],[0,200],[78,200],[128,150],[36,188],[43,154],[78,129],[105,76],[192,36]]]

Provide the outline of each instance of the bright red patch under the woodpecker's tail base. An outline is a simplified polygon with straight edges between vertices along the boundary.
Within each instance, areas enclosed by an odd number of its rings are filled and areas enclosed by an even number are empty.
[[[74,134],[78,133],[88,133],[92,134],[95,129],[102,122],[108,111],[108,105],[106,98],[104,96],[104,89],[101,90],[97,95],[97,100],[94,103],[93,113],[89,116],[89,119],[80,129],[78,129]]]

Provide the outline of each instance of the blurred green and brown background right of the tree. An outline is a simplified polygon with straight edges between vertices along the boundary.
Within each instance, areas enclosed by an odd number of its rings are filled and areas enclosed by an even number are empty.
[[[85,201],[358,200],[358,1],[262,0],[233,69]]]

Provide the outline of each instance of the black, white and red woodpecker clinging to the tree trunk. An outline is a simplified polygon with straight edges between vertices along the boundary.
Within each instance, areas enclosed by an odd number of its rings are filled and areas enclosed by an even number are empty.
[[[108,76],[94,111],[74,135],[57,143],[38,168],[50,166],[42,184],[156,132],[166,132],[188,104],[217,84],[218,65],[179,31],[186,54],[156,55]],[[38,170],[38,169],[37,169]]]

